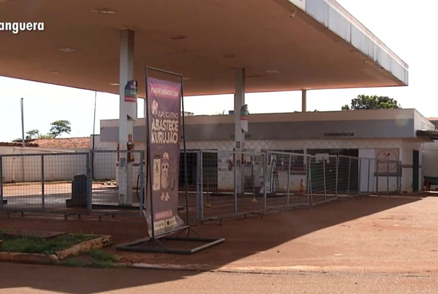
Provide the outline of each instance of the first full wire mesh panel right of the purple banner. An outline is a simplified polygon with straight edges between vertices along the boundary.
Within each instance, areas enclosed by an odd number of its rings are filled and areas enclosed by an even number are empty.
[[[264,153],[202,150],[200,154],[201,220],[263,212]]]

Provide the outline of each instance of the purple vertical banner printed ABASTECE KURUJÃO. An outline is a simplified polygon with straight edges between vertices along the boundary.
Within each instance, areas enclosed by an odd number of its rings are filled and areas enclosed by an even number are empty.
[[[178,216],[180,170],[181,83],[147,78],[149,161],[155,235],[184,225]],[[149,188],[149,186],[148,186]],[[149,189],[148,189],[149,190]],[[149,235],[152,232],[150,199],[146,202]]]

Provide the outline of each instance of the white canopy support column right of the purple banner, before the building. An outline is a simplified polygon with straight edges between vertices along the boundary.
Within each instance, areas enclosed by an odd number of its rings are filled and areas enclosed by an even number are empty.
[[[240,125],[240,109],[245,104],[245,69],[236,69],[236,88],[234,93],[234,148],[236,151],[236,192],[243,193],[243,166],[241,151],[245,148],[245,134]]]

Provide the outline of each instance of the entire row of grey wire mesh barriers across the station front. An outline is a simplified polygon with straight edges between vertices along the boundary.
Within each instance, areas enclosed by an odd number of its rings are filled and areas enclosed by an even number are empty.
[[[401,190],[400,161],[303,153],[181,151],[179,211],[218,220]],[[142,150],[0,155],[0,208],[140,216],[146,172]]]

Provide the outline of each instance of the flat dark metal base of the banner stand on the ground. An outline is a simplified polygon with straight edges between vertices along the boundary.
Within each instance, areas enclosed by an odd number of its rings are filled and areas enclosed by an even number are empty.
[[[179,232],[178,232],[179,231]],[[187,231],[187,237],[180,236],[181,233]],[[189,233],[192,231],[197,237],[189,237]],[[193,254],[201,250],[213,247],[225,241],[225,238],[202,238],[193,228],[190,226],[184,226],[175,232],[178,232],[174,236],[163,236],[158,238],[157,236],[147,237],[140,240],[136,240],[130,243],[120,244],[115,246],[117,250],[122,251],[136,251],[136,252],[155,252],[155,253],[174,253],[174,254]],[[171,241],[189,241],[189,242],[203,242],[200,246],[185,249],[185,248],[174,248],[167,247],[160,240],[171,240]],[[152,247],[143,247],[146,244],[156,243],[157,245]]]

